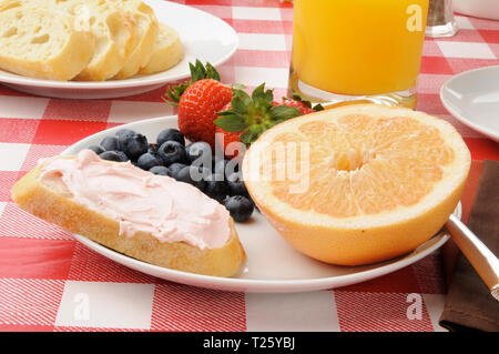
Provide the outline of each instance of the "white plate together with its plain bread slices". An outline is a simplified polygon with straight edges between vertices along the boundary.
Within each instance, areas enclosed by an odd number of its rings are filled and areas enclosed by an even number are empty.
[[[0,1],[0,83],[37,95],[106,99],[214,67],[238,37],[225,21],[162,0]]]

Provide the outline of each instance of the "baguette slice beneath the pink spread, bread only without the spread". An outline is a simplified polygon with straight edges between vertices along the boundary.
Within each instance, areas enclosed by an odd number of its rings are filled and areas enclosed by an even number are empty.
[[[40,181],[40,168],[31,170],[11,190],[12,200],[33,215],[86,236],[120,253],[163,267],[205,275],[234,275],[246,257],[232,218],[224,246],[201,250],[184,242],[160,242],[144,232],[120,235],[120,224],[75,201],[57,185]]]

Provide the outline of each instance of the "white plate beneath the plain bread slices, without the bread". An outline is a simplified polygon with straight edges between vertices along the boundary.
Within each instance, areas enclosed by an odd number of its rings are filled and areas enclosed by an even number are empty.
[[[41,80],[0,70],[0,82],[18,91],[62,99],[110,99],[139,94],[190,77],[189,62],[200,59],[217,67],[237,49],[238,37],[225,21],[201,10],[162,0],[144,0],[160,22],[173,27],[184,47],[184,59],[174,68],[149,75],[104,82]]]

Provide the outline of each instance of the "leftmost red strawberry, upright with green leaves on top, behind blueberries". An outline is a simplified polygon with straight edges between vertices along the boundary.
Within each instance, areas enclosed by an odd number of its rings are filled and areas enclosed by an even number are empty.
[[[215,125],[218,112],[231,102],[231,87],[220,82],[216,70],[197,60],[191,65],[191,81],[170,89],[169,102],[179,105],[179,129],[191,141],[205,141],[215,146]],[[177,103],[176,103],[177,102]]]

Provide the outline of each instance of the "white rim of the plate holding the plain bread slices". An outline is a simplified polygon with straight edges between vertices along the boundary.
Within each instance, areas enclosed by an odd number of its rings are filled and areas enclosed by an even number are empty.
[[[232,28],[227,22],[224,20],[217,18],[216,16],[213,16],[206,11],[200,10],[194,7],[189,7],[181,3],[175,3],[171,1],[160,1],[160,0],[149,0],[149,1],[155,1],[159,3],[159,6],[171,6],[171,7],[182,7],[182,8],[189,8],[190,10],[194,12],[202,12],[203,16],[208,16],[213,19],[213,21],[216,21],[227,28],[228,31],[232,32],[234,36],[234,47],[227,54],[222,57],[221,59],[210,62],[213,67],[218,67],[223,63],[225,63],[228,59],[231,59],[234,53],[237,51],[240,47],[240,37],[237,36],[237,32]],[[2,75],[1,73],[8,73],[9,75]],[[17,85],[24,85],[24,87],[31,87],[31,88],[45,88],[45,89],[62,89],[62,90],[71,90],[71,89],[78,89],[78,90],[114,90],[114,89],[130,89],[130,88],[142,88],[142,87],[152,87],[155,84],[165,84],[169,82],[174,82],[177,80],[190,78],[191,73],[182,73],[176,74],[172,77],[159,77],[159,74],[149,74],[143,75],[140,78],[131,78],[131,79],[123,79],[123,80],[108,80],[108,81],[58,81],[58,80],[44,80],[44,79],[34,79],[29,77],[19,75],[16,73],[11,73],[4,70],[0,70],[0,83],[7,83],[7,84],[17,84]]]

